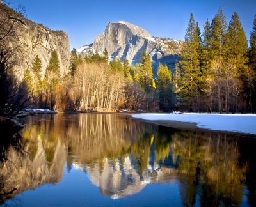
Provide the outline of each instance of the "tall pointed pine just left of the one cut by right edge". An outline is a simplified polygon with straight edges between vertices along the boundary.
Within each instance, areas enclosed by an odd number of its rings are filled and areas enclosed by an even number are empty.
[[[246,85],[246,63],[248,59],[246,57],[246,52],[248,50],[246,35],[244,33],[243,27],[241,26],[241,22],[239,21],[239,17],[235,12],[232,15],[230,23],[228,25],[227,33],[225,34],[225,42],[224,42],[224,58],[223,62],[225,65],[223,66],[223,73],[225,74],[225,112],[229,112],[230,101],[229,97],[230,88],[234,88],[235,94],[233,93],[232,97],[236,100],[236,111],[237,109],[237,96],[239,95],[239,91]],[[232,79],[233,77],[233,79]]]

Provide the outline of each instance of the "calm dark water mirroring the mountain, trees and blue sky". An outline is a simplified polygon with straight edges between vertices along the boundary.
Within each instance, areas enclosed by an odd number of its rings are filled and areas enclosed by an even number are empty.
[[[118,114],[31,116],[0,141],[6,206],[256,206],[256,137]]]

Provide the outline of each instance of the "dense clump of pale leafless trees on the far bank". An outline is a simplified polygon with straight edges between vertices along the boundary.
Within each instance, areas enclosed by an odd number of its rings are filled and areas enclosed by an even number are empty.
[[[77,67],[70,95],[81,111],[109,111],[122,105],[124,86],[124,75],[113,72],[107,63],[82,63]]]

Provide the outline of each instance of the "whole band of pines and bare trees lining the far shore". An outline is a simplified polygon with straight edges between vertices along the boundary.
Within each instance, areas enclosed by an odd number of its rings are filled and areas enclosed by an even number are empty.
[[[227,25],[220,9],[211,23],[205,22],[202,34],[191,14],[173,74],[166,65],[159,64],[154,78],[151,59],[145,51],[140,63],[131,66],[127,59],[123,63],[117,58],[109,62],[106,49],[102,54],[95,52],[85,57],[73,49],[68,73],[61,74],[54,50],[45,71],[40,58],[34,57],[21,84],[13,78],[15,58],[9,58],[13,50],[5,44],[19,24],[7,18],[5,27],[1,27],[1,114],[25,105],[62,111],[256,110],[256,17],[248,47],[237,13]]]

